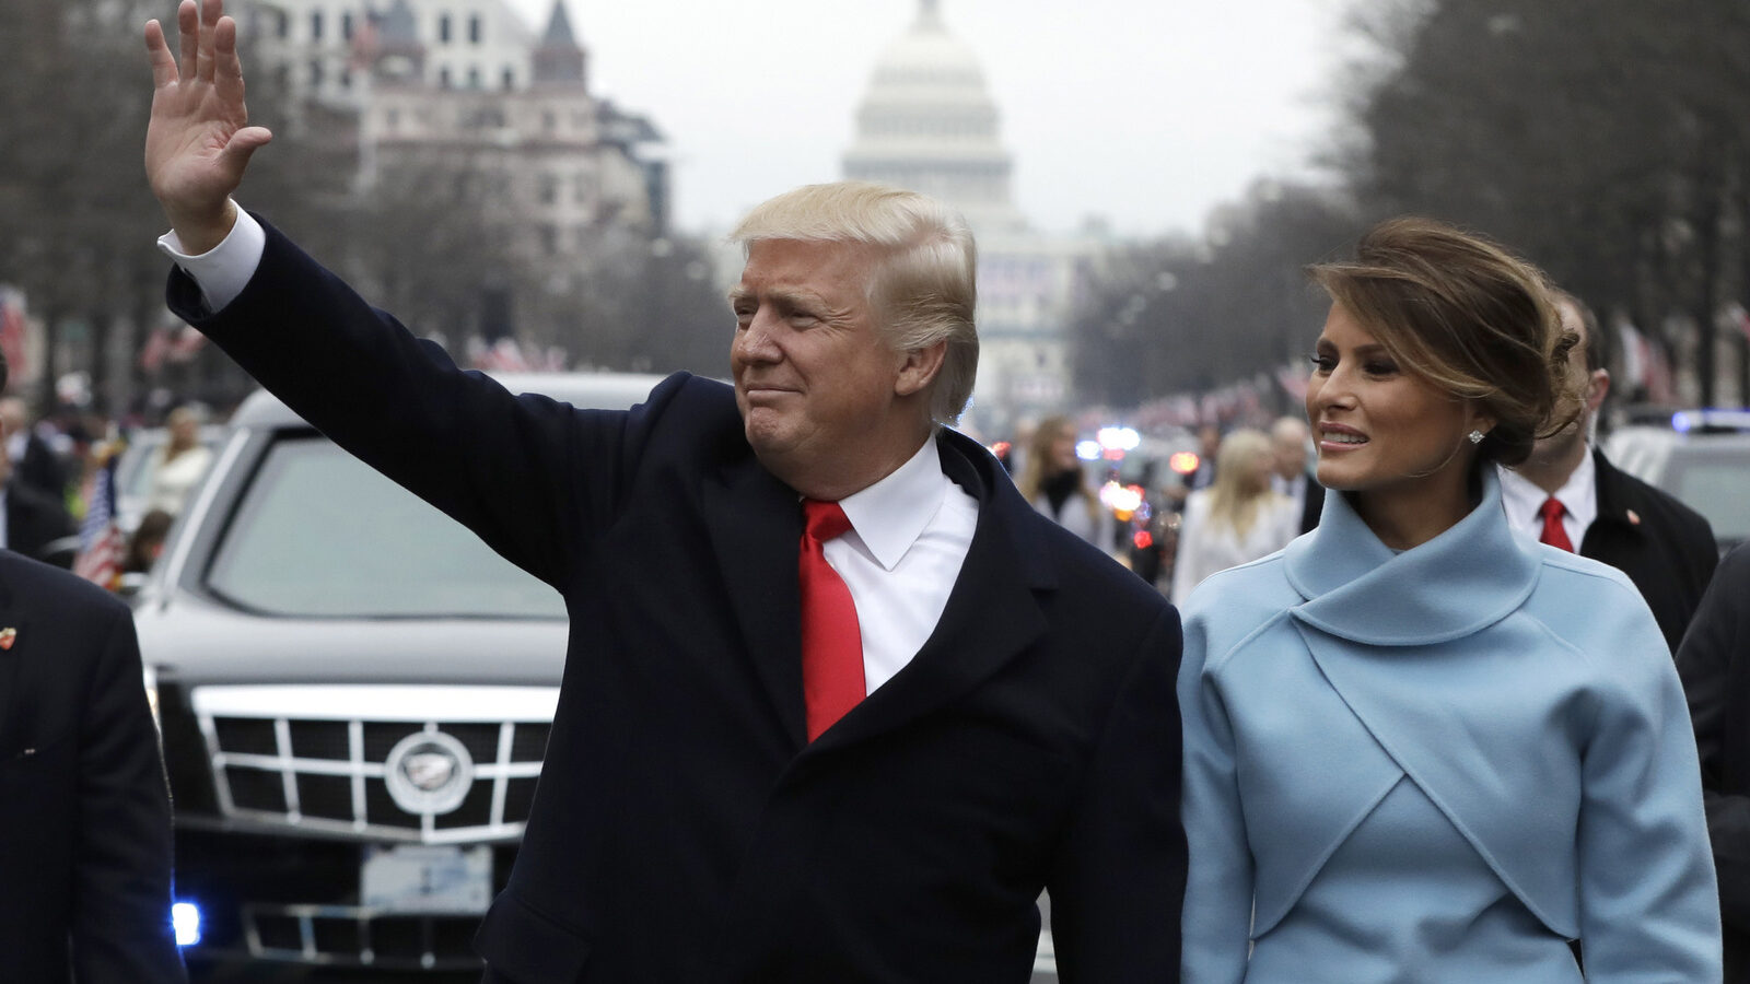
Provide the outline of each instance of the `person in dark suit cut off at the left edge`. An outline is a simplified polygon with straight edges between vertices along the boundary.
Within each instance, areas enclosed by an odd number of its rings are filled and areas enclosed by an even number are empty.
[[[0,355],[0,387],[5,375]],[[126,604],[0,550],[4,980],[187,980],[170,923],[170,786],[142,672]]]

